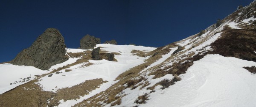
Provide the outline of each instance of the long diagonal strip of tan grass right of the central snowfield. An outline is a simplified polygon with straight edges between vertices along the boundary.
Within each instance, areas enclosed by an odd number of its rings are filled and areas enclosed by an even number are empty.
[[[131,68],[128,71],[123,72],[122,74],[119,74],[119,76],[116,77],[116,80],[119,80],[119,81],[117,83],[113,84],[110,88],[108,88],[104,92],[96,94],[95,96],[93,96],[89,99],[86,99],[83,102],[76,104],[75,106],[79,106],[79,107],[84,107],[84,106],[97,107],[98,106],[98,107],[100,107],[102,105],[98,104],[98,102],[105,101],[107,104],[110,104],[111,102],[114,102],[117,99],[121,99],[122,96],[119,96],[116,98],[115,98],[115,96],[117,94],[122,93],[122,90],[125,89],[125,87],[123,85],[126,84],[129,80],[131,80],[131,78],[139,77],[140,71],[147,68],[151,63],[154,63],[156,60],[159,60],[160,58],[162,58],[162,55],[165,55],[168,52],[170,52],[169,48],[171,48],[171,47],[174,47],[174,46],[168,45],[166,47],[157,48],[156,50],[154,50],[152,52],[148,52],[148,55],[153,55],[155,52],[159,52],[159,53],[157,55],[155,55],[154,57],[151,57],[151,58],[148,58],[147,60],[145,60],[145,63],[135,66],[134,68]],[[136,83],[136,80],[134,80],[134,82],[129,83],[130,87],[133,87],[134,85],[136,85],[135,83]],[[139,85],[136,85],[136,86],[139,86]],[[118,88],[118,89],[116,90],[116,88]],[[99,98],[99,96],[101,96],[101,97]],[[88,101],[90,101],[90,103],[87,103]]]

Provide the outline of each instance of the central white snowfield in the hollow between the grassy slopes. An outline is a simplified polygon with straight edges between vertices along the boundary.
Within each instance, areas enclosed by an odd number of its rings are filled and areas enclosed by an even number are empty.
[[[71,66],[68,69],[72,69],[72,71],[65,72],[65,69],[59,71],[61,74],[53,74],[52,77],[42,77],[41,81],[38,84],[43,88],[43,91],[52,91],[56,92],[58,89],[65,87],[72,87],[74,85],[78,85],[86,80],[93,80],[97,78],[102,78],[103,80],[107,80],[108,82],[104,83],[97,88],[95,91],[90,92],[89,95],[81,96],[80,99],[74,100],[61,100],[61,104],[59,107],[70,107],[76,103],[87,99],[96,93],[104,91],[109,88],[113,83],[115,78],[124,71],[128,69],[140,65],[144,63],[144,60],[147,58],[139,57],[133,55],[131,53],[132,50],[140,50],[144,52],[153,51],[154,47],[143,47],[143,46],[133,46],[133,45],[112,45],[112,44],[97,44],[96,47],[101,47],[101,49],[106,50],[108,52],[117,52],[120,55],[115,55],[117,62],[108,61],[108,60],[89,60],[90,63],[93,63],[91,66],[81,67],[84,63]],[[83,52],[83,49],[68,49],[69,52]],[[70,58],[64,63],[57,64],[52,68],[61,67],[66,65],[67,63],[71,63],[77,60],[76,58]],[[51,68],[51,69],[52,69]]]

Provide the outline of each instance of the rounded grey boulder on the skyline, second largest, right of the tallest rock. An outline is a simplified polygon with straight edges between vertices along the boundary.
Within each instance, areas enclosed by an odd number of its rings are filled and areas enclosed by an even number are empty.
[[[87,34],[80,40],[80,49],[93,49],[96,44],[100,44],[100,38]]]

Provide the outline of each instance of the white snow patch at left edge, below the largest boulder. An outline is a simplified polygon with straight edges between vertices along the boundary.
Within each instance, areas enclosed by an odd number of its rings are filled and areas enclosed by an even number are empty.
[[[47,71],[37,69],[33,66],[16,66],[9,63],[0,64],[0,94],[35,79],[35,75],[45,74]],[[25,82],[22,82],[24,78]],[[17,82],[15,82],[17,81]],[[20,82],[21,81],[21,82]],[[15,84],[14,84],[15,82]],[[10,85],[12,83],[12,85]]]

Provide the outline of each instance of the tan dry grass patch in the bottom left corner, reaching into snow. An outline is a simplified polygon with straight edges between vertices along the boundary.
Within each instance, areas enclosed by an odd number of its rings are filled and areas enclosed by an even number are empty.
[[[35,82],[38,80],[32,80],[1,94],[0,107],[53,107],[57,106],[61,99],[76,99],[88,94],[88,91],[98,88],[105,81],[102,79],[87,80],[71,88],[59,89],[57,93],[42,91],[42,88]]]

